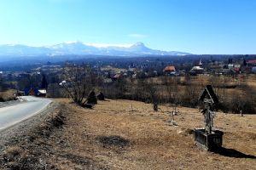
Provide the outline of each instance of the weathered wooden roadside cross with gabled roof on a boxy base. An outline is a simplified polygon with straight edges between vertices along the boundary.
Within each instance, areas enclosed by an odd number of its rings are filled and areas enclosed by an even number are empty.
[[[205,117],[205,128],[195,129],[195,144],[204,150],[217,150],[222,146],[224,133],[212,129],[214,118],[213,109],[218,105],[218,97],[214,93],[211,85],[207,85],[199,100],[205,104],[204,110],[201,111]]]

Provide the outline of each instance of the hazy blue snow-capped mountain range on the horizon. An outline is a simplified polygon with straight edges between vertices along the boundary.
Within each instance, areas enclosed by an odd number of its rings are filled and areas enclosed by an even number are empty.
[[[130,46],[105,45],[98,46],[84,42],[63,42],[47,47],[31,47],[26,45],[0,45],[0,56],[56,56],[56,55],[108,55],[108,56],[134,56],[134,55],[188,55],[189,53],[177,51],[160,51],[147,48],[143,42]]]

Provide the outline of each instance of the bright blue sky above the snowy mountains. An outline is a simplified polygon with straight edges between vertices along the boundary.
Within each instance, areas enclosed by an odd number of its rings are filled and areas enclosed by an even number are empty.
[[[0,0],[0,44],[256,54],[256,0]]]

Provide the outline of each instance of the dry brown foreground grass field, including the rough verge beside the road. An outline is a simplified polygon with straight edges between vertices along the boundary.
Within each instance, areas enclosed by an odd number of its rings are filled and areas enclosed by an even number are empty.
[[[203,126],[198,109],[178,107],[172,126],[167,106],[155,112],[131,100],[100,101],[92,110],[68,99],[54,103],[47,120],[10,141],[0,169],[256,169],[255,115],[218,113],[224,152],[212,153],[194,144],[192,130]]]

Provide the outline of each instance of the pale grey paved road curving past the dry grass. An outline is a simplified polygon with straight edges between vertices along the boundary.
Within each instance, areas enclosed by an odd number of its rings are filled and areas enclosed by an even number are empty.
[[[0,130],[37,115],[51,103],[50,99],[24,96],[26,102],[0,108]]]

